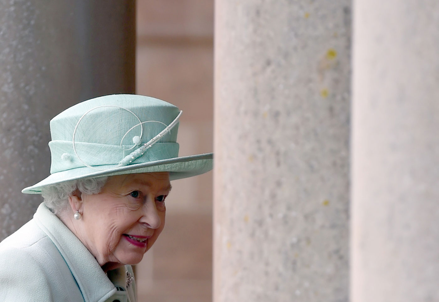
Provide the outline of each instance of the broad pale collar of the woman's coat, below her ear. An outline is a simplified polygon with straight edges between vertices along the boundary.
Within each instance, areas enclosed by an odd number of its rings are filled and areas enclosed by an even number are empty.
[[[43,203],[33,217],[63,256],[85,302],[103,302],[116,292],[94,256]]]

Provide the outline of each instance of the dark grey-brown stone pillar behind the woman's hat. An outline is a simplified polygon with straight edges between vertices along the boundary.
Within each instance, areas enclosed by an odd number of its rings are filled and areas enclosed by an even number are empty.
[[[0,2],[0,240],[32,218],[49,175],[49,120],[110,93],[134,92],[135,2]]]

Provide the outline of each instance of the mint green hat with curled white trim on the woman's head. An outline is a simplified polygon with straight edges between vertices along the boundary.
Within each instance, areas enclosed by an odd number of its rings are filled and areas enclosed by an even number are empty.
[[[113,94],[83,101],[50,121],[50,176],[26,194],[81,178],[169,172],[169,179],[212,169],[213,155],[178,157],[182,111],[173,104],[135,94]]]

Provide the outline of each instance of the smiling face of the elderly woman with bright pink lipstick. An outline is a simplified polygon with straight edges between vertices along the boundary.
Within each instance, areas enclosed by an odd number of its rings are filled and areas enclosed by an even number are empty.
[[[167,172],[109,177],[101,193],[82,194],[79,239],[101,266],[139,263],[165,226],[170,190]]]

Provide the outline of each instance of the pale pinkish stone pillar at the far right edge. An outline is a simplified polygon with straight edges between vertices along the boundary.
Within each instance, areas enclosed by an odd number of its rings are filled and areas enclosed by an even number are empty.
[[[354,3],[352,301],[439,301],[439,3]]]

